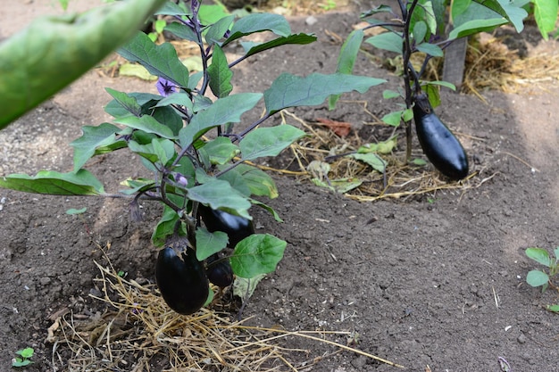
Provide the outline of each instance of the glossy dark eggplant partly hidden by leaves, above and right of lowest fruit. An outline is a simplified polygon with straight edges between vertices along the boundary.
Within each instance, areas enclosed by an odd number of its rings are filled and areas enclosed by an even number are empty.
[[[238,242],[254,234],[253,221],[230,214],[226,211],[213,210],[203,204],[198,206],[200,217],[209,232],[221,231],[229,236],[229,247],[234,248]]]

